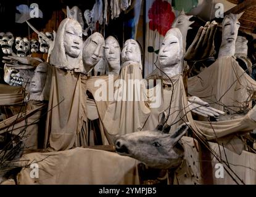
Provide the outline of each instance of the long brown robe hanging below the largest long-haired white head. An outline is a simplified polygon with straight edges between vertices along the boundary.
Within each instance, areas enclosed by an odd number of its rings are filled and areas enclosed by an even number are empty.
[[[49,151],[67,150],[80,141],[77,138],[86,123],[84,78],[81,73],[53,66],[44,143]]]

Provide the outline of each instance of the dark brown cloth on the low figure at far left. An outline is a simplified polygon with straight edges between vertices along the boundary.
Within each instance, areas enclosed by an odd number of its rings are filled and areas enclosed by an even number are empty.
[[[0,122],[0,134],[19,135],[25,148],[38,148],[38,143],[43,143],[46,110],[47,103],[31,100],[26,111]]]

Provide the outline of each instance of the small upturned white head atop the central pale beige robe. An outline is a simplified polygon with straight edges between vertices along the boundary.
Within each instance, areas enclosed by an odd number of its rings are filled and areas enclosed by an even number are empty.
[[[134,41],[134,39],[128,39],[127,41],[125,41],[121,57],[122,62],[141,62],[141,50],[139,49],[138,43]]]

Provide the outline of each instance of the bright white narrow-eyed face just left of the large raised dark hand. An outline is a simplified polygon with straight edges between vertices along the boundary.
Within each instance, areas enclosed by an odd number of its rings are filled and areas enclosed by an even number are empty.
[[[162,46],[159,50],[160,65],[175,65],[181,59],[180,42],[173,34],[167,34],[163,39]]]

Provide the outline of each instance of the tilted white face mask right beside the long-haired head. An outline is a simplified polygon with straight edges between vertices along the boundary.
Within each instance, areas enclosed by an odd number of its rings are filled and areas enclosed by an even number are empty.
[[[99,33],[88,39],[89,43],[83,47],[83,63],[85,66],[93,67],[102,58],[105,41]]]

